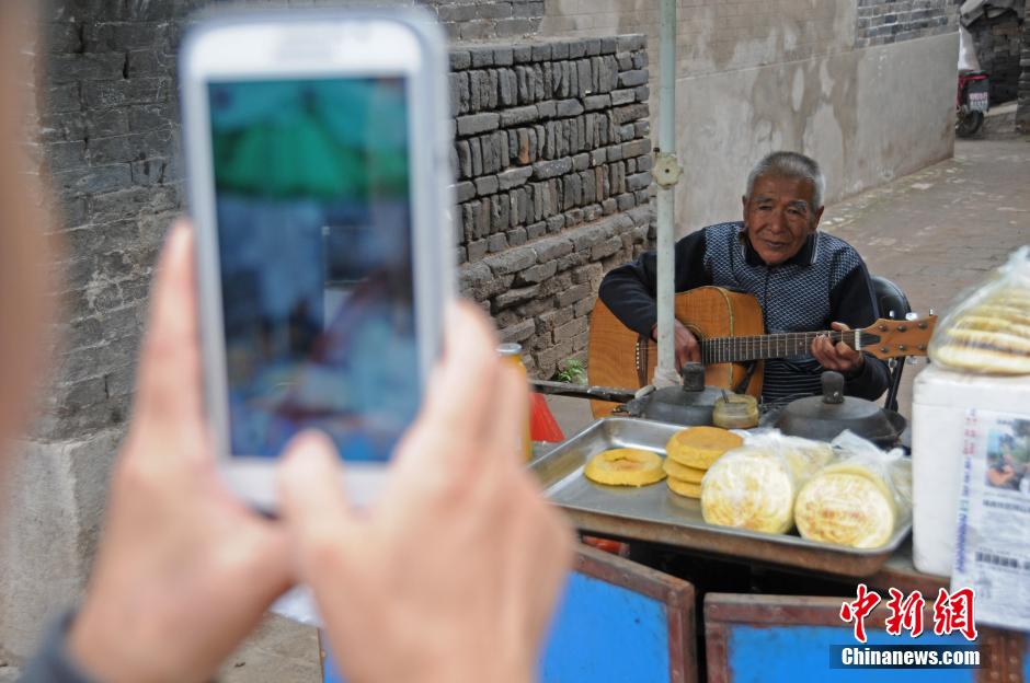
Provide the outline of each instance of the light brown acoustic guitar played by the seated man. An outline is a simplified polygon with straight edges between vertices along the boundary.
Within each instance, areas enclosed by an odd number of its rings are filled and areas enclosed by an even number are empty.
[[[676,294],[676,320],[694,333],[701,347],[705,383],[728,390],[762,393],[762,361],[806,354],[820,335],[844,342],[880,359],[926,356],[937,316],[917,320],[880,319],[863,329],[839,332],[789,332],[765,334],[762,308],[753,296],[722,287],[699,287]],[[587,347],[590,383],[599,386],[631,386],[650,383],[657,361],[657,347],[627,327],[600,299],[594,304]],[[749,363],[755,367],[748,377]],[[611,413],[618,404],[591,401],[594,417]]]

